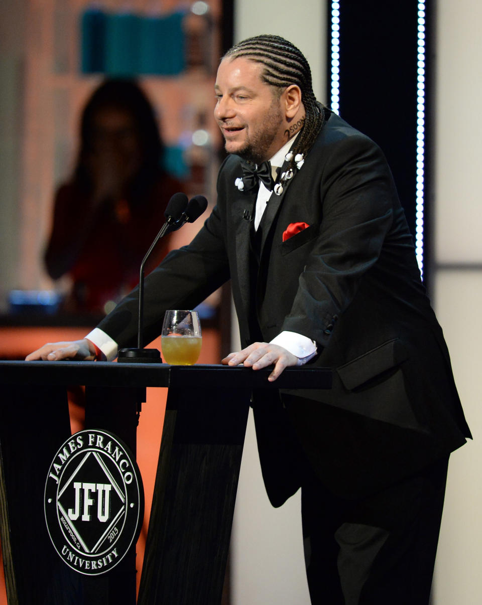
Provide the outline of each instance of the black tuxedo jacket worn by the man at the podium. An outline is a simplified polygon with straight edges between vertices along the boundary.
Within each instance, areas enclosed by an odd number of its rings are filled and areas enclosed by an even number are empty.
[[[230,155],[202,230],[148,276],[145,341],[159,335],[165,309],[191,309],[230,278],[243,347],[283,330],[317,342],[310,363],[334,368],[331,391],[283,391],[269,405],[255,399],[271,502],[297,489],[306,457],[332,491],[355,497],[462,445],[470,433],[449,354],[380,149],[329,116],[303,166],[268,201],[256,276],[246,220],[256,192],[237,189],[241,175]],[[300,222],[308,227],[283,242],[286,227]],[[135,342],[136,297],[98,326],[121,346]]]

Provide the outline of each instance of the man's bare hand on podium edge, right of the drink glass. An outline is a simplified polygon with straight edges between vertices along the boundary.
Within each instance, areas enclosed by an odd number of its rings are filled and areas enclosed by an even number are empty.
[[[253,370],[261,370],[268,365],[274,365],[274,370],[269,374],[269,382],[275,381],[282,371],[289,365],[298,365],[298,358],[289,353],[285,348],[268,342],[253,342],[249,347],[243,348],[237,353],[229,353],[221,360],[224,365],[243,364]]]

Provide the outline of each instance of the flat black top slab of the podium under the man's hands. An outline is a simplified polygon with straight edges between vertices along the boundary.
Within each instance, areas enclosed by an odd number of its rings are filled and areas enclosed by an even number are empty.
[[[0,384],[180,388],[331,388],[329,368],[289,367],[274,382],[269,368],[107,361],[0,361]]]

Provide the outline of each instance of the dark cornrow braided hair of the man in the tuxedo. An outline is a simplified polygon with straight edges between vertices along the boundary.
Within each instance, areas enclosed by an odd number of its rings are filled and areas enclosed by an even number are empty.
[[[223,59],[246,57],[263,65],[263,82],[276,87],[279,96],[283,90],[295,84],[302,92],[305,107],[305,123],[292,148],[293,159],[296,154],[306,154],[325,123],[325,108],[317,101],[311,82],[311,69],[299,48],[280,36],[262,34],[247,38],[230,48]]]

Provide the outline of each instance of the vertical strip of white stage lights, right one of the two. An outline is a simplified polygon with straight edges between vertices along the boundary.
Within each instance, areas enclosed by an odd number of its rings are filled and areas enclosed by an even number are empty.
[[[415,253],[423,278],[423,202],[425,143],[425,2],[418,2],[417,52],[417,200],[415,206]]]

